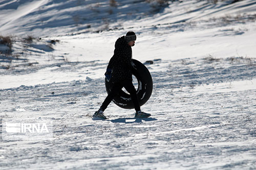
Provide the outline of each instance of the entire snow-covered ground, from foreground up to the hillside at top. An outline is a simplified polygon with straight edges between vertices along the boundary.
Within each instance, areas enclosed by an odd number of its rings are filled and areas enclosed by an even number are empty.
[[[0,2],[0,118],[53,123],[51,139],[1,138],[1,169],[256,169],[256,1],[231,2]],[[154,62],[152,116],[111,103],[92,120],[130,30]]]

